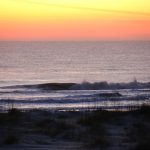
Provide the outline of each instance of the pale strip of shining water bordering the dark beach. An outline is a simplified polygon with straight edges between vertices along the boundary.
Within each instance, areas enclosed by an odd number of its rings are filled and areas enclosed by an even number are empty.
[[[142,105],[150,105],[149,100],[141,100],[141,101],[103,101],[103,102],[96,102],[96,103],[78,103],[78,104],[15,104],[14,108],[23,109],[23,110],[30,110],[30,109],[49,109],[49,110],[90,110],[90,109],[118,109],[118,110],[125,110],[129,108],[137,108]],[[8,104],[3,109],[9,109],[12,105]]]

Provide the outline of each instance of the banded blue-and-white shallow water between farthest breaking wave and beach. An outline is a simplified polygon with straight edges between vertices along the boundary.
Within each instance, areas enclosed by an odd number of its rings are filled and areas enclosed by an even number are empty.
[[[3,90],[4,92],[4,90]],[[26,91],[27,92],[27,91]],[[119,93],[121,96],[107,96],[107,93]],[[100,96],[99,94],[106,94]],[[150,92],[145,90],[64,90],[50,92],[5,93],[1,95],[1,109],[126,109],[150,104]]]

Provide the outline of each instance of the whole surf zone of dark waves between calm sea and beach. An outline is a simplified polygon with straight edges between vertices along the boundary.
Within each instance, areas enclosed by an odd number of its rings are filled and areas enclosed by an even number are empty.
[[[0,109],[126,108],[150,104],[150,82],[45,83],[0,87]]]

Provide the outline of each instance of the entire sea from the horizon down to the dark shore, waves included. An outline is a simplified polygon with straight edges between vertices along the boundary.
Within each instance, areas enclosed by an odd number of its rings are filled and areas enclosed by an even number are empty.
[[[149,101],[150,41],[0,42],[0,110]]]

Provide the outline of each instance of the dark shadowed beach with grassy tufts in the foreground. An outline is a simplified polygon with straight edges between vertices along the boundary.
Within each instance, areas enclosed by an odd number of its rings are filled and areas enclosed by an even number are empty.
[[[148,150],[150,108],[0,113],[1,150]]]

